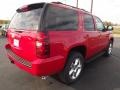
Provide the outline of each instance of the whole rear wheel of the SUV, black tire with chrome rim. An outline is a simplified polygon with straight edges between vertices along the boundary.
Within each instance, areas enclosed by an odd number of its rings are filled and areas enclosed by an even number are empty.
[[[84,58],[79,52],[71,52],[64,70],[59,74],[59,79],[65,84],[78,80],[83,69]]]

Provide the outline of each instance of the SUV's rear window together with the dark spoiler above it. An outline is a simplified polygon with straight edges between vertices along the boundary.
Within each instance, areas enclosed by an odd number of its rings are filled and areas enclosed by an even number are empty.
[[[38,30],[44,4],[32,4],[17,9],[9,28],[22,30]]]

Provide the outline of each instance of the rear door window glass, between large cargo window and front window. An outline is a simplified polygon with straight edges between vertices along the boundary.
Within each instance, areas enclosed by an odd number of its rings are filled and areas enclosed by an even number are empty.
[[[84,15],[84,28],[88,31],[94,30],[94,22],[91,15]]]

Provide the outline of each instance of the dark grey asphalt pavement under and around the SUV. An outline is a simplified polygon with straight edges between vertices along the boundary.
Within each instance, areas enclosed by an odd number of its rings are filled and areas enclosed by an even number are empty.
[[[0,37],[0,90],[120,90],[120,38],[115,38],[111,57],[99,57],[86,65],[80,79],[65,85],[54,78],[42,80],[11,64],[6,39]]]

